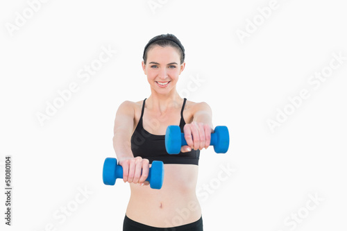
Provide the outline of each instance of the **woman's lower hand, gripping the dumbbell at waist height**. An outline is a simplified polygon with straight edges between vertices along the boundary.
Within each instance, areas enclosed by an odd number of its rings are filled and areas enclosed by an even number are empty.
[[[123,167],[124,182],[149,185],[146,181],[149,176],[149,160],[142,157],[125,157],[119,160],[119,165]]]

